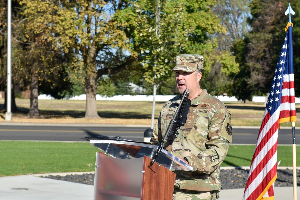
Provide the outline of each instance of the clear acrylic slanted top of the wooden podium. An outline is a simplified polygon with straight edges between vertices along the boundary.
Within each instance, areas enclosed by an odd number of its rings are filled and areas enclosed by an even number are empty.
[[[157,145],[125,140],[119,137],[111,139],[87,137],[87,139],[90,140],[91,145],[97,147],[106,155],[121,159],[140,158],[144,155],[152,158],[158,149]],[[155,161],[170,170],[194,171],[192,166],[179,160],[164,149],[161,150]]]

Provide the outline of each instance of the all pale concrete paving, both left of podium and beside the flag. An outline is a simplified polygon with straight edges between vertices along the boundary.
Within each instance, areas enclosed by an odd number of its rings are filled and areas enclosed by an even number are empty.
[[[90,172],[85,172],[90,173]],[[68,173],[71,174],[71,173]],[[75,173],[73,173],[75,174]],[[47,176],[47,174],[43,174]],[[52,174],[53,175],[53,174]],[[66,174],[61,174],[66,175]],[[0,177],[1,200],[92,200],[94,186],[41,178],[40,175]],[[300,187],[297,187],[299,194]],[[221,190],[220,200],[241,200],[244,189]],[[300,195],[300,194],[299,194]],[[275,187],[275,199],[293,199],[293,187]],[[298,198],[299,199],[299,198]]]

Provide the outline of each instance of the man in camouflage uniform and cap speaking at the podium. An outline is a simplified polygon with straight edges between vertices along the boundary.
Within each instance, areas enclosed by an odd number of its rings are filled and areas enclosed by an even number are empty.
[[[182,54],[176,57],[176,86],[179,93],[189,90],[191,106],[187,121],[177,138],[169,138],[166,150],[194,167],[193,172],[175,170],[174,200],[218,199],[220,164],[232,140],[230,113],[217,98],[202,90],[203,56]],[[180,96],[167,101],[153,129],[151,140],[161,143],[172,121]],[[173,143],[171,142],[173,141]]]

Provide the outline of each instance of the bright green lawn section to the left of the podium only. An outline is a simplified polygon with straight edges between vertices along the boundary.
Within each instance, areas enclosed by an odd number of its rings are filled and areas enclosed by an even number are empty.
[[[88,142],[0,141],[0,176],[94,171],[97,151]]]

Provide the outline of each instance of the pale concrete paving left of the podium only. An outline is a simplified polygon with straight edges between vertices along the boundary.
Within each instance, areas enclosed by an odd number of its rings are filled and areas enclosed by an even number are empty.
[[[93,196],[93,185],[33,175],[0,177],[1,200],[92,200]]]

